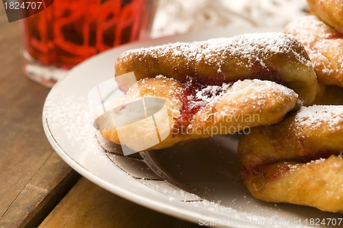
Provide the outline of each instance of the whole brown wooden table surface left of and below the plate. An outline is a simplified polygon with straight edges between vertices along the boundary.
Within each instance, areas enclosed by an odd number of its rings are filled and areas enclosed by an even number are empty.
[[[51,148],[42,126],[49,89],[21,70],[19,23],[0,7],[0,227],[198,227],[80,177]]]

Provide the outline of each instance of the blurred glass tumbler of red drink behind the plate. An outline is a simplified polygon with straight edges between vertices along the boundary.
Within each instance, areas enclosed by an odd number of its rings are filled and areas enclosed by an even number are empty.
[[[150,34],[156,0],[56,0],[21,20],[25,76],[52,87],[99,52]]]

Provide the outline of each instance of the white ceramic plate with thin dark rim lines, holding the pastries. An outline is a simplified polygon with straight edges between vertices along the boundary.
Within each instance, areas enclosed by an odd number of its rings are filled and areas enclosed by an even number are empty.
[[[252,198],[239,181],[235,137],[213,137],[150,152],[143,156],[145,160],[110,154],[95,137],[87,95],[100,82],[113,78],[115,59],[124,50],[265,31],[275,30],[215,30],[171,36],[124,45],[90,58],[51,89],[43,110],[47,138],[69,166],[97,185],[139,205],[193,223],[222,227],[306,227],[323,219],[328,224],[331,218],[338,224],[340,214]],[[154,174],[145,162],[172,184]]]

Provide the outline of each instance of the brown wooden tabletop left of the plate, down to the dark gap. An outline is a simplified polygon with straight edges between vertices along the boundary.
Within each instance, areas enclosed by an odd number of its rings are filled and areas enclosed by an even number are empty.
[[[20,49],[19,23],[0,7],[0,227],[38,224],[75,182],[43,132],[49,89],[23,76]]]

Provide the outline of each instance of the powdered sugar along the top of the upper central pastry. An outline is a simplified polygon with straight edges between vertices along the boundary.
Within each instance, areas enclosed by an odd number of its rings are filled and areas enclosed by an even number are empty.
[[[265,66],[263,58],[275,53],[292,53],[303,64],[311,64],[307,58],[296,53],[292,47],[300,45],[294,36],[278,33],[253,33],[233,36],[231,38],[215,38],[209,41],[193,43],[171,43],[168,45],[158,45],[141,49],[132,49],[124,52],[122,58],[142,58],[150,56],[158,59],[159,57],[169,56],[172,60],[185,59],[187,62],[204,62],[216,65],[217,71],[221,72],[221,67],[226,59],[224,56],[238,56],[243,58],[241,64],[252,67],[259,61],[261,66]],[[223,56],[223,58],[221,58]]]

